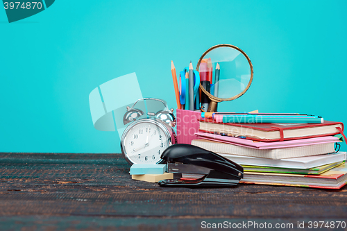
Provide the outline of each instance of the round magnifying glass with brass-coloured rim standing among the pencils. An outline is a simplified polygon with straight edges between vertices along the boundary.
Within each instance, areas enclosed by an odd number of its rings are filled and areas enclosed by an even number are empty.
[[[253,66],[237,46],[219,44],[205,51],[198,60],[201,110],[215,112],[217,103],[242,96],[251,86]]]

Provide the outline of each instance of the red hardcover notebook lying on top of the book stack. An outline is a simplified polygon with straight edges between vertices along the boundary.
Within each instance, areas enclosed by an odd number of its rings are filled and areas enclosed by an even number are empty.
[[[344,123],[217,123],[213,119],[198,119],[199,130],[260,142],[324,137],[343,134]],[[344,136],[345,137],[345,136]],[[345,137],[346,139],[346,137]]]

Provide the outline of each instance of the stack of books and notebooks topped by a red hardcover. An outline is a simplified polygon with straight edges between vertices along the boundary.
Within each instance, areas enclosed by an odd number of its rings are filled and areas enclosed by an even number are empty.
[[[192,145],[241,164],[241,182],[323,189],[346,185],[346,153],[335,150],[341,142],[337,136],[343,134],[343,123],[323,118],[314,123],[232,121],[199,119]]]

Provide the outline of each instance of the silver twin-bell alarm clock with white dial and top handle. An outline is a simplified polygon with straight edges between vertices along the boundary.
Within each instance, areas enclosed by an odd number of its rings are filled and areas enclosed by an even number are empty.
[[[121,136],[121,153],[129,164],[160,164],[162,152],[176,143],[173,109],[161,99],[139,99],[127,108],[123,122],[129,125]]]

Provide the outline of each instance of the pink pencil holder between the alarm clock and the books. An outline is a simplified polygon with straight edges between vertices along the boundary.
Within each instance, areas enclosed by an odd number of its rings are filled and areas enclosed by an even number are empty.
[[[177,143],[191,144],[196,139],[195,132],[198,132],[198,119],[201,119],[201,112],[189,110],[176,110]]]

